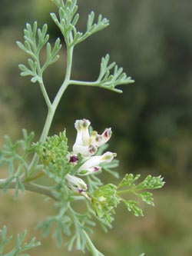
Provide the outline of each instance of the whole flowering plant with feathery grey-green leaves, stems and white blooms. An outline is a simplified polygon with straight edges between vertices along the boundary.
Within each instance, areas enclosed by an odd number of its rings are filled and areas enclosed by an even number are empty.
[[[48,42],[47,25],[38,28],[38,23],[26,25],[24,30],[25,42],[17,42],[29,56],[28,66],[19,65],[22,76],[31,76],[31,82],[38,83],[48,107],[48,116],[38,142],[33,142],[34,132],[22,131],[23,138],[12,142],[5,136],[5,145],[0,149],[0,166],[7,167],[6,177],[0,179],[0,189],[5,194],[8,189],[15,189],[15,198],[18,191],[32,191],[43,194],[55,201],[58,214],[49,216],[38,224],[44,235],[50,230],[58,244],[65,239],[68,250],[76,248],[81,251],[91,252],[93,256],[103,255],[95,248],[89,233],[97,220],[104,230],[111,227],[114,219],[115,208],[121,202],[128,211],[135,216],[142,216],[143,211],[139,207],[139,201],[154,205],[153,195],[149,190],[161,188],[164,185],[161,176],[148,175],[143,181],[137,182],[140,175],[125,175],[118,183],[103,185],[98,174],[108,171],[118,177],[113,168],[118,167],[115,159],[116,153],[106,151],[107,142],[111,138],[111,128],[106,128],[101,135],[93,131],[91,122],[87,119],[76,120],[74,127],[77,137],[72,150],[68,149],[66,131],[59,135],[48,136],[51,122],[58,107],[61,97],[69,85],[89,85],[106,88],[111,91],[122,92],[117,85],[132,83],[133,80],[118,68],[115,62],[109,64],[109,55],[101,59],[101,68],[96,81],[76,81],[71,79],[71,67],[74,47],[86,38],[106,28],[109,24],[107,18],[98,16],[94,23],[94,12],[88,15],[86,32],[78,32],[76,24],[79,15],[77,0],[52,0],[58,7],[58,15],[51,13],[51,18],[58,26],[65,38],[67,52],[67,69],[63,81],[55,99],[51,102],[44,84],[44,71],[49,65],[58,61],[58,52],[61,49],[60,39],[51,48]],[[40,61],[42,49],[46,50],[45,62]],[[38,178],[47,177],[51,184],[39,184]],[[127,194],[127,198],[123,195]],[[131,199],[129,194],[134,194],[138,199]],[[84,202],[86,210],[79,213],[73,208],[75,201]],[[72,204],[73,203],[73,204]],[[25,232],[18,235],[17,243],[12,251],[5,253],[5,245],[11,238],[7,238],[7,228],[0,231],[0,254],[6,256],[18,256],[22,251],[28,250],[40,243],[32,238],[28,244],[23,244]],[[23,254],[28,255],[28,254]]]

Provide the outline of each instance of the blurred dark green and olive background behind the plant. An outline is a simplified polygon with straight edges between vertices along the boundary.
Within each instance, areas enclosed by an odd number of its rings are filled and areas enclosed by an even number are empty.
[[[118,210],[114,229],[107,235],[97,228],[95,244],[106,256],[192,255],[192,2],[189,0],[82,0],[79,29],[84,30],[91,10],[110,20],[110,27],[78,45],[74,51],[72,77],[97,78],[101,57],[124,67],[135,79],[122,87],[123,95],[99,88],[71,86],[55,115],[51,134],[67,128],[70,145],[75,138],[74,120],[88,118],[94,129],[113,129],[110,150],[121,160],[125,172],[164,175],[166,185],[154,194],[156,207],[144,209],[144,218]],[[1,0],[0,15],[0,144],[6,133],[20,138],[23,127],[40,135],[46,108],[38,85],[19,75],[18,63],[25,54],[15,44],[22,41],[25,22],[48,23],[51,42],[60,37],[49,12],[51,0]],[[61,58],[45,74],[51,98],[65,77],[65,43]],[[110,177],[104,177],[109,179]],[[31,229],[37,220],[52,214],[51,202],[34,194],[12,200],[2,197],[0,226],[12,231]],[[45,212],[46,209],[46,212]],[[14,211],[13,211],[14,210]],[[37,255],[81,255],[55,248],[44,239]],[[89,254],[86,254],[86,256]]]

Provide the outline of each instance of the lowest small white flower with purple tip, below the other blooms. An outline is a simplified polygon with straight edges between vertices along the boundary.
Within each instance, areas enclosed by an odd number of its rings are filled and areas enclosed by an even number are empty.
[[[83,193],[88,189],[88,185],[81,178],[73,175],[65,175],[65,178],[68,182],[68,187],[74,192]]]

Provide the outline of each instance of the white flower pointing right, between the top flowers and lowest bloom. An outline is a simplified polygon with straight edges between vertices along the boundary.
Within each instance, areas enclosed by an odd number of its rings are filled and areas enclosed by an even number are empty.
[[[78,175],[89,175],[93,172],[100,171],[101,163],[111,162],[115,156],[116,153],[111,153],[110,151],[103,155],[92,156],[78,169]]]

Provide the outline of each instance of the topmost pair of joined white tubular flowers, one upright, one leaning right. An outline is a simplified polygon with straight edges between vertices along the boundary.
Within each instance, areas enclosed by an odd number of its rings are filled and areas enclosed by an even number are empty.
[[[77,120],[74,127],[78,131],[76,141],[73,146],[74,154],[81,154],[84,158],[89,158],[98,151],[98,147],[104,145],[111,138],[111,128],[107,128],[101,135],[97,131],[89,132],[91,122],[87,119]]]

